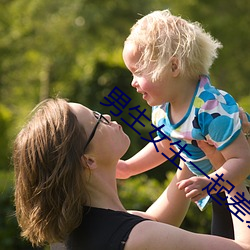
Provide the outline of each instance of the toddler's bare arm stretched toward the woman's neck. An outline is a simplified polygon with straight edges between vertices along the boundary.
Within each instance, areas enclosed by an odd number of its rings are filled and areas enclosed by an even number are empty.
[[[157,152],[154,144],[150,142],[130,159],[125,161],[120,160],[117,164],[116,178],[126,179],[159,166],[167,160],[161,155],[161,152],[164,152],[168,157],[174,155],[169,149],[170,143],[171,141],[168,140],[158,142],[157,147],[159,152]]]

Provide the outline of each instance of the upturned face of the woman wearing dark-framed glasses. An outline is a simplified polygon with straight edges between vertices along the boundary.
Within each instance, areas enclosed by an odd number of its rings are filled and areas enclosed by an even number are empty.
[[[79,123],[84,127],[87,140],[98,123],[98,116],[85,106],[78,103],[69,103],[72,112],[76,115]],[[103,115],[105,119],[100,119],[92,140],[86,148],[86,151],[94,152],[95,155],[103,157],[103,160],[114,156],[121,158],[127,151],[130,140],[123,132],[121,125],[111,121],[109,115]]]

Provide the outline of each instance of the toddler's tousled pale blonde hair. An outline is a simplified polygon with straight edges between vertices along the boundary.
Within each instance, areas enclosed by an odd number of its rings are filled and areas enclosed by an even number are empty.
[[[137,71],[151,74],[153,81],[164,74],[173,57],[178,59],[182,75],[193,79],[208,74],[217,50],[222,48],[198,22],[188,22],[169,10],[154,11],[139,19],[126,43],[142,53]]]

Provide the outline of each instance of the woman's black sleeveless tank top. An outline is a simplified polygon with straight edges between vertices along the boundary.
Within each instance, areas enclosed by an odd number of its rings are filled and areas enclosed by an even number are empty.
[[[133,227],[146,219],[126,212],[85,207],[82,223],[69,236],[67,250],[123,250]]]

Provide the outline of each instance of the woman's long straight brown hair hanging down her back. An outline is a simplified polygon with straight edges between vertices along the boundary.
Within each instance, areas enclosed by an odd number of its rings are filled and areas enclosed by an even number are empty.
[[[63,242],[86,202],[86,133],[67,101],[39,104],[14,142],[15,206],[22,236],[33,245]]]

